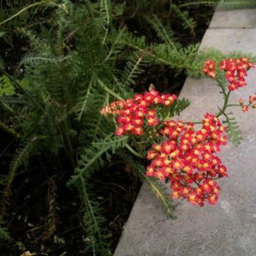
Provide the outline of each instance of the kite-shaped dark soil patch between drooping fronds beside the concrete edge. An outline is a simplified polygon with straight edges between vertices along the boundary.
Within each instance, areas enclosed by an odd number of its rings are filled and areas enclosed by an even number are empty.
[[[93,179],[95,192],[108,221],[108,242],[111,249],[119,241],[142,182],[131,172],[126,163],[114,157],[106,169],[99,170]]]

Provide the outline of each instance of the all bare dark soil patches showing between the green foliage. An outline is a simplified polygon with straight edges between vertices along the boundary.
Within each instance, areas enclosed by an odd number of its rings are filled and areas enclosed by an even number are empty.
[[[213,9],[206,7],[200,8],[200,11],[198,8],[190,8],[188,11],[197,22],[196,34],[191,35],[189,31],[184,33],[178,21],[174,21],[173,26],[183,45],[201,41],[213,14]],[[130,24],[133,27],[133,20]],[[13,35],[11,43],[0,40],[0,56],[5,60],[6,69],[13,73],[29,47],[26,40],[17,35]],[[185,78],[184,72],[177,73],[167,66],[151,66],[141,75],[134,89],[138,92],[148,90],[149,84],[154,84],[157,90],[178,94]],[[1,138],[1,147],[5,149],[10,139],[5,132],[1,132]],[[15,141],[9,145],[8,150],[11,152],[14,148]],[[5,167],[7,163],[8,160],[2,160],[1,166]],[[34,175],[34,172],[41,173]],[[44,251],[44,254],[37,255],[86,255],[84,224],[79,221],[81,200],[76,191],[66,187],[69,177],[69,172],[53,177],[45,170],[30,169],[14,179],[7,223],[12,239],[8,242],[0,241],[0,255],[20,255],[24,250]],[[100,169],[92,182],[107,222],[108,242],[114,252],[142,183],[130,172],[129,166],[117,157],[113,157],[111,163]]]

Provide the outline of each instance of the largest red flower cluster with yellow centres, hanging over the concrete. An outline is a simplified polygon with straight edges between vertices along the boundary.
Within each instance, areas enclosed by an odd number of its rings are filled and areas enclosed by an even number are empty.
[[[172,198],[184,197],[192,204],[204,205],[218,200],[220,187],[214,181],[227,176],[227,168],[215,156],[220,145],[226,145],[225,127],[212,114],[206,114],[203,128],[194,130],[193,123],[168,120],[161,133],[167,140],[152,145],[147,158],[151,164],[147,175],[171,182]]]

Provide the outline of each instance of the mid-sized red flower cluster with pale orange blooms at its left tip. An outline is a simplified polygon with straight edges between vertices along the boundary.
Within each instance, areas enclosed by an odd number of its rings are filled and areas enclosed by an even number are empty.
[[[144,94],[136,94],[133,99],[112,102],[110,106],[102,108],[101,114],[117,115],[117,136],[126,133],[142,135],[146,126],[157,126],[157,106],[169,107],[177,99],[177,96],[166,93],[160,95],[156,90]]]

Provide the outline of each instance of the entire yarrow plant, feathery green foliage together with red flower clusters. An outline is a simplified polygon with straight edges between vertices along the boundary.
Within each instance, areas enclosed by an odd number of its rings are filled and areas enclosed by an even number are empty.
[[[196,130],[193,123],[172,120],[187,108],[187,99],[160,94],[154,89],[126,101],[123,98],[133,95],[133,85],[138,83],[139,76],[146,76],[145,69],[149,66],[164,65],[175,72],[184,71],[200,77],[203,74],[200,63],[205,59],[224,58],[224,54],[211,50],[199,53],[198,44],[182,47],[167,23],[169,18],[165,21],[154,11],[150,13],[149,8],[156,6],[151,4],[147,5],[145,15],[143,2],[153,4],[157,0],[137,1],[135,8],[136,16],[147,21],[147,26],[158,36],[155,42],[127,29],[123,5],[113,2],[112,6],[111,1],[105,0],[76,4],[70,0],[41,1],[24,7],[0,23],[8,25],[35,7],[37,12],[40,6],[51,10],[51,19],[45,24],[40,23],[38,29],[28,30],[32,26],[20,29],[23,36],[29,38],[31,51],[21,60],[16,72],[8,74],[0,63],[0,128],[15,141],[11,154],[2,152],[7,160],[0,180],[2,239],[8,239],[9,234],[11,238],[15,233],[11,225],[14,216],[10,214],[8,203],[12,199],[14,182],[15,188],[25,186],[23,177],[27,173],[28,181],[30,177],[43,177],[40,179],[43,193],[38,186],[33,197],[38,201],[39,194],[40,198],[46,199],[41,200],[42,204],[49,202],[48,214],[42,216],[39,213],[40,219],[44,217],[42,236],[45,234],[48,242],[53,241],[54,248],[56,241],[69,242],[65,237],[58,237],[63,232],[56,221],[59,210],[55,203],[59,194],[55,184],[66,184],[69,179],[69,187],[75,188],[81,199],[78,218],[75,218],[83,223],[79,224],[82,229],[79,233],[83,233],[85,239],[80,236],[79,246],[93,255],[111,254],[100,202],[93,194],[91,182],[96,170],[102,168],[113,154],[118,154],[135,174],[148,182],[169,215],[172,215],[172,201],[166,197],[163,187],[155,182],[156,178],[170,182],[174,198],[185,197],[190,203],[200,205],[205,199],[209,203],[216,202],[220,188],[215,178],[224,177],[227,172],[215,152],[226,142],[224,133],[235,142],[240,139],[235,123],[225,111],[230,107],[227,88],[219,84],[225,96],[224,106],[215,116],[206,114],[203,117],[201,130]],[[194,32],[194,22],[187,19],[187,13],[180,11],[178,5],[170,7],[168,17],[173,12],[183,21],[183,27]],[[134,17],[133,11],[131,15]],[[239,74],[233,71],[232,89],[245,85],[242,78],[251,66],[245,59],[240,61],[247,66],[239,69]],[[230,69],[230,63],[227,64],[228,68],[224,69]],[[234,65],[239,66],[238,61]],[[214,62],[206,63],[206,71],[208,69],[213,78],[218,78]],[[238,78],[240,75],[242,77]],[[113,99],[118,102],[109,105]],[[255,96],[251,96],[247,105],[242,99],[237,105],[247,111],[254,108],[254,102]],[[105,105],[107,107],[102,108]],[[99,114],[101,108],[102,114],[116,117],[114,122]],[[218,120],[220,115],[227,122],[227,128]],[[8,148],[9,142],[5,146]],[[195,157],[190,158],[188,152]],[[139,161],[139,157],[143,160]],[[146,158],[151,161],[147,170]],[[211,169],[213,166],[214,170]],[[44,184],[48,184],[47,189]],[[59,205],[65,202],[59,200]],[[44,209],[44,205],[41,208]],[[36,215],[38,212],[32,213]],[[12,226],[10,230],[5,228],[5,223]],[[23,242],[30,247],[29,239]]]

